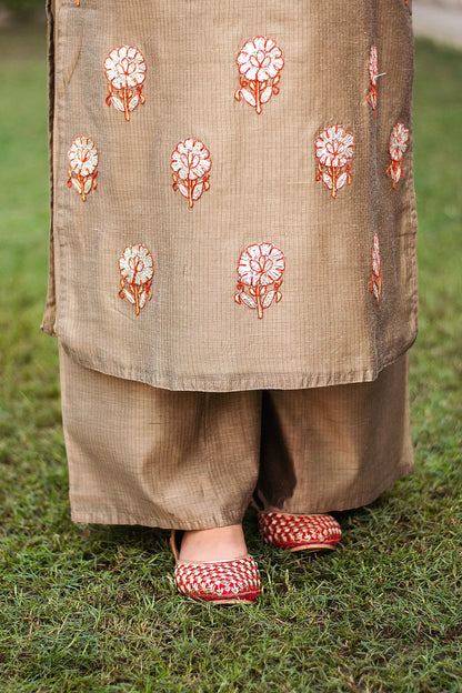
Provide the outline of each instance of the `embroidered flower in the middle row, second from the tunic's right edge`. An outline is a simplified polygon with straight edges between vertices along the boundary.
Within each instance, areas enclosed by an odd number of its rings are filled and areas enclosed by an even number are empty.
[[[330,125],[319,133],[315,141],[318,161],[317,181],[322,180],[333,198],[345,184],[353,182],[351,161],[354,154],[354,137],[341,125]]]

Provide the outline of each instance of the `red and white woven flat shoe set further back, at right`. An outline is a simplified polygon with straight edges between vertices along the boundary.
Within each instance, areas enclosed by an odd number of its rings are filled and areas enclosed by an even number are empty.
[[[267,544],[289,551],[332,550],[342,535],[340,524],[331,515],[261,512],[259,528]]]

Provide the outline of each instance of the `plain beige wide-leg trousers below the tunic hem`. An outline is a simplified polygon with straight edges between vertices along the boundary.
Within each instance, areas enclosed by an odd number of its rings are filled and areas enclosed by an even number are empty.
[[[413,470],[408,354],[373,382],[178,392],[76,363],[60,344],[72,519],[205,529],[263,508],[372,502]]]

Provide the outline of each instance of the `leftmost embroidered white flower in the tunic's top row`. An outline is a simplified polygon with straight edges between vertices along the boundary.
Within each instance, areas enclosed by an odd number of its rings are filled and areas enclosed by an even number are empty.
[[[145,80],[144,57],[132,46],[114,48],[104,60],[104,74],[108,80],[108,106],[122,111],[127,122],[130,114],[140,103],[145,103],[141,93]]]

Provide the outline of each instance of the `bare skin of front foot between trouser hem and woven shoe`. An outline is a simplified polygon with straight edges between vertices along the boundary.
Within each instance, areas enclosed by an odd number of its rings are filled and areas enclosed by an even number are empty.
[[[247,555],[242,524],[187,531],[181,539],[180,561],[231,561]]]

